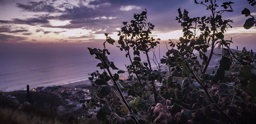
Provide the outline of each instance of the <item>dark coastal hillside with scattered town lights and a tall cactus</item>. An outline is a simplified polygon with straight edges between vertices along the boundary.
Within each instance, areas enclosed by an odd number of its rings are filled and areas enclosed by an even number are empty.
[[[91,86],[38,87],[0,92],[0,124],[97,124],[93,111],[79,102],[89,99]]]

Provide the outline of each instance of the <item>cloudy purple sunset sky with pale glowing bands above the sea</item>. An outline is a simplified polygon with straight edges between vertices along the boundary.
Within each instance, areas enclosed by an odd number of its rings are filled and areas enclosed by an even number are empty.
[[[217,0],[217,3],[227,1],[234,2],[234,12],[222,17],[234,23],[225,37],[232,37],[238,45],[256,48],[256,27],[244,29],[248,17],[241,14],[248,8],[256,16],[256,6],[250,6],[247,0]],[[175,20],[178,8],[188,10],[190,17],[210,14],[194,0],[0,0],[0,42],[98,42],[105,39],[104,33],[118,39],[122,22],[130,22],[134,13],[140,14],[145,8],[148,21],[155,25],[152,36],[162,40],[183,36]]]

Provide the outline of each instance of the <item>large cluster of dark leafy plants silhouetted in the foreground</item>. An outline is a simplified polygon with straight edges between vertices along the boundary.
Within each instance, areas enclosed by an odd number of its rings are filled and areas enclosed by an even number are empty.
[[[105,124],[216,124],[252,123],[256,116],[256,56],[245,48],[233,52],[232,39],[225,39],[233,20],[223,19],[224,12],[233,12],[233,2],[219,6],[216,0],[196,4],[206,6],[209,16],[189,17],[178,9],[176,20],[183,28],[178,42],[160,60],[167,70],[151,68],[148,52],[160,39],[150,37],[154,25],[147,20],[147,11],[134,14],[131,23],[123,22],[117,46],[131,62],[121,70],[108,59],[105,43],[115,40],[105,34],[104,48],[88,48],[99,59],[102,73],[91,73],[89,80],[96,87],[87,109],[97,110],[96,118]],[[214,53],[214,49],[222,49]],[[209,55],[207,55],[209,50]],[[142,62],[142,54],[147,62]],[[216,69],[210,69],[212,56],[219,56]],[[133,58],[133,59],[132,59]],[[117,73],[111,71],[116,70]],[[116,72],[115,71],[115,72]],[[119,79],[128,73],[128,79]],[[156,85],[156,82],[160,85]]]

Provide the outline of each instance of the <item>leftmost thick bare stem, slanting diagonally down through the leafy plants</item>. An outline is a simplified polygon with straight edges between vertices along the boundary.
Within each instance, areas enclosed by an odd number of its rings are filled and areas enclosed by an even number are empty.
[[[106,64],[106,63],[105,63],[105,64]],[[109,73],[109,75],[110,75],[110,77],[111,77],[111,79],[112,79],[112,81],[113,81],[114,86],[116,86],[116,89],[117,89],[117,91],[119,92],[119,95],[120,95],[121,98],[122,98],[122,102],[123,102],[123,103],[125,104],[125,106],[128,108],[128,111],[129,111],[129,112],[132,112],[131,107],[129,106],[129,104],[127,103],[125,97],[123,96],[122,91],[120,90],[120,88],[118,87],[118,85],[117,85],[117,83],[116,83],[116,80],[115,80],[114,77],[112,76],[111,71],[109,70],[109,68],[107,68],[107,70],[108,70],[108,73]],[[135,122],[135,124],[140,124],[134,116],[132,116],[131,118],[133,119],[133,121]]]

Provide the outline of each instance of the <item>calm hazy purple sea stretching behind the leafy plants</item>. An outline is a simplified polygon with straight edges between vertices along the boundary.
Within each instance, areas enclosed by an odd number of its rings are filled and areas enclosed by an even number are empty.
[[[90,55],[87,47],[103,48],[102,43],[95,42],[0,44],[0,90],[24,90],[26,85],[36,88],[86,81],[88,74],[100,70],[96,67],[100,61]],[[117,68],[126,70],[129,59],[125,57],[125,51],[120,51],[116,45],[107,45],[107,48],[111,52],[108,59]]]

